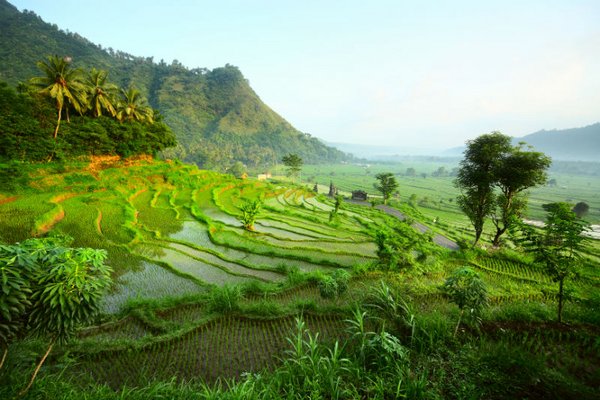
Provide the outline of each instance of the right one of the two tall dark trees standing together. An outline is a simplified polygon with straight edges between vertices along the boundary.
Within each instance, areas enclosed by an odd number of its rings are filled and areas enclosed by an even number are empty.
[[[550,157],[544,153],[523,150],[523,144],[509,149],[503,154],[494,171],[495,186],[500,190],[496,196],[495,212],[492,222],[496,234],[492,244],[500,245],[500,237],[522,217],[527,207],[527,197],[524,191],[538,185],[544,185],[547,180],[546,170],[550,166]]]

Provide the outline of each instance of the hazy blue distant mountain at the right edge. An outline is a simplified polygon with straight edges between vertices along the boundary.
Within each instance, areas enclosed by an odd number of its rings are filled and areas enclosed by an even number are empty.
[[[600,122],[582,128],[541,130],[521,138],[555,160],[600,161]]]

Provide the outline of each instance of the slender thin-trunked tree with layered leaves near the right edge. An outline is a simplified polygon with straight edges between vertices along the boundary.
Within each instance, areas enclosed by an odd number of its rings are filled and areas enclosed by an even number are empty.
[[[541,232],[525,224],[521,225],[521,242],[527,251],[533,252],[535,261],[544,266],[554,282],[558,282],[558,322],[562,322],[565,299],[565,280],[577,275],[581,262],[581,250],[587,222],[579,218],[568,203],[543,205],[548,212],[546,225]]]

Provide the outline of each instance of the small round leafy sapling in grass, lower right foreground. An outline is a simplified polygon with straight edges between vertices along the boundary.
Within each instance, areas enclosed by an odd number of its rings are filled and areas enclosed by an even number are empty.
[[[467,310],[470,322],[480,323],[481,312],[487,306],[488,300],[485,283],[477,272],[470,267],[463,267],[454,271],[444,282],[442,290],[460,310],[454,336],[456,336],[460,323],[464,318],[465,310]]]

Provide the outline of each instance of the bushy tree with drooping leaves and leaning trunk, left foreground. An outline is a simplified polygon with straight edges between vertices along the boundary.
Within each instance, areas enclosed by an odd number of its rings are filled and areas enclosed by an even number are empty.
[[[12,321],[20,322],[17,329],[49,340],[46,353],[19,396],[29,390],[53,346],[68,341],[78,326],[96,315],[101,296],[111,283],[111,269],[104,264],[105,250],[69,248],[67,243],[64,238],[29,239],[0,249],[3,318],[5,305],[10,304]],[[27,296],[25,302],[21,301],[23,294]],[[2,323],[0,329],[4,341],[6,325]],[[9,329],[14,336],[14,328]]]

